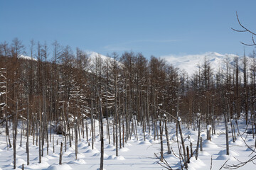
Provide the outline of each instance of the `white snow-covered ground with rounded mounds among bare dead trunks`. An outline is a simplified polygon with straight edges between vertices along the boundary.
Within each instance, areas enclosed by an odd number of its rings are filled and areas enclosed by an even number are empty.
[[[182,121],[181,121],[182,123]],[[96,123],[97,125],[97,123]],[[240,120],[238,123],[240,131],[245,130],[245,122]],[[90,126],[89,126],[90,127]],[[189,146],[190,142],[193,143],[193,150],[196,149],[197,142],[197,130],[188,130],[183,127],[183,137],[185,138],[186,146]],[[216,125],[216,135],[212,135],[211,141],[206,140],[206,125],[203,125],[201,137],[203,138],[203,152],[199,151],[198,160],[195,157],[191,158],[191,163],[188,164],[188,169],[210,169],[211,158],[212,158],[212,169],[220,169],[227,159],[230,159],[227,164],[238,164],[238,160],[246,161],[250,157],[253,157],[255,153],[252,153],[251,149],[245,146],[241,137],[237,137],[238,140],[233,142],[231,130],[229,132],[229,144],[230,144],[230,155],[225,155],[225,125],[222,121]],[[177,137],[176,137],[176,125],[174,123],[168,124],[169,128],[169,139],[171,148],[174,152],[178,153],[177,149]],[[230,128],[230,125],[229,125]],[[96,130],[99,128],[96,126]],[[112,128],[111,128],[112,129]],[[104,128],[106,130],[106,127]],[[13,169],[13,149],[6,148],[6,135],[5,129],[0,128],[0,168],[1,169]],[[90,130],[89,130],[90,131]],[[60,141],[63,140],[61,135],[55,135],[55,153],[53,153],[53,143],[50,143],[49,154],[46,154],[46,145],[44,146],[44,157],[42,157],[42,163],[38,163],[38,146],[32,145],[33,137],[30,137],[30,164],[26,165],[26,137],[23,137],[22,147],[20,147],[20,130],[18,130],[17,137],[17,158],[16,158],[16,169],[21,169],[24,164],[25,169],[98,169],[100,167],[100,137],[96,136],[95,149],[92,149],[91,138],[89,138],[90,146],[85,139],[81,138],[78,142],[78,160],[75,160],[75,146],[72,147],[67,145],[67,152],[63,152],[63,164],[58,165],[59,153],[60,153]],[[96,133],[97,134],[97,133]],[[112,134],[112,132],[111,132]],[[189,139],[188,139],[189,135]],[[238,135],[238,132],[236,132]],[[110,135],[111,136],[111,135]],[[252,138],[252,134],[244,133],[242,135],[247,145],[255,149],[255,140]],[[53,138],[52,138],[53,139]],[[12,140],[12,139],[11,139]],[[58,145],[56,145],[58,140]],[[164,158],[171,165],[173,169],[180,167],[180,161],[173,152],[166,154],[166,137],[163,137],[164,142]],[[180,137],[178,136],[178,140]],[[119,149],[119,157],[115,156],[115,147],[108,142],[107,136],[105,135],[105,159],[104,169],[115,170],[115,169],[164,169],[156,159],[154,154],[160,156],[160,140],[154,140],[154,134],[149,135],[146,133],[146,140],[144,141],[144,135],[142,128],[138,127],[138,140],[132,136],[131,140],[124,144],[122,149]],[[64,147],[63,147],[64,151]],[[238,160],[236,160],[238,159]],[[252,162],[242,166],[240,169],[255,169],[255,164]]]

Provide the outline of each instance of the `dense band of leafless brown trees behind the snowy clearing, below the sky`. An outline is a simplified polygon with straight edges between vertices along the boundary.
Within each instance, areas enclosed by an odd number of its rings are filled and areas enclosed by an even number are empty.
[[[30,56],[26,59],[21,55]],[[34,60],[36,59],[36,60]],[[31,40],[0,44],[1,123],[29,113],[43,112],[51,125],[62,119],[98,116],[100,100],[105,118],[145,121],[145,128],[166,113],[169,120],[181,117],[195,127],[196,113],[214,128],[218,115],[228,118],[255,113],[256,59],[226,57],[225,68],[213,72],[209,60],[198,64],[191,77],[161,58],[149,60],[136,52],[112,53],[91,59],[79,48]],[[68,116],[63,117],[63,112]],[[173,116],[171,116],[173,115]],[[30,117],[31,120],[33,116]],[[255,120],[253,118],[252,120]],[[107,120],[108,121],[108,120]],[[51,126],[50,126],[51,127]]]

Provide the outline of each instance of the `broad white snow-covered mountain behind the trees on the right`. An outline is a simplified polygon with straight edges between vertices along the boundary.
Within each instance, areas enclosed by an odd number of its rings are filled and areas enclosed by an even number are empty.
[[[203,62],[206,60],[209,60],[210,67],[213,69],[213,72],[218,72],[218,69],[225,69],[225,62],[224,60],[228,57],[230,61],[230,65],[233,65],[234,58],[237,55],[233,54],[225,54],[221,55],[218,52],[206,52],[201,55],[166,55],[162,56],[161,58],[169,62],[170,64],[173,64],[174,67],[178,67],[179,69],[184,69],[189,76],[191,76],[196,70],[198,70],[198,65],[203,64]],[[239,57],[239,56],[238,56]],[[249,57],[247,57],[248,60]],[[239,57],[239,60],[241,60],[242,57]],[[241,64],[241,61],[240,61]]]

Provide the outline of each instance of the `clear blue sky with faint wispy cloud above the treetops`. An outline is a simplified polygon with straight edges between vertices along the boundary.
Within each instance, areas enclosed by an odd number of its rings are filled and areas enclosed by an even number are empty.
[[[0,42],[19,38],[50,44],[58,40],[82,50],[107,53],[133,50],[145,57],[204,52],[251,52],[235,33],[240,21],[256,29],[256,1],[4,1],[0,0]],[[27,47],[27,50],[29,48]]]

